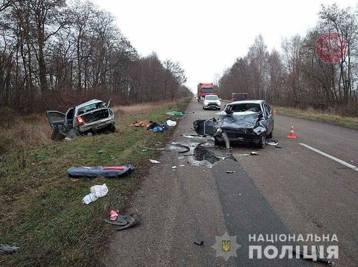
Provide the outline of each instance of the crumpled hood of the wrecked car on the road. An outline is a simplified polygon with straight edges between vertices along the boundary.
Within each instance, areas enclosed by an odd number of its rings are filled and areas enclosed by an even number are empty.
[[[216,128],[222,129],[253,129],[258,135],[261,132],[266,131],[266,127],[259,121],[260,113],[252,111],[234,112],[232,114],[226,114],[221,112]]]

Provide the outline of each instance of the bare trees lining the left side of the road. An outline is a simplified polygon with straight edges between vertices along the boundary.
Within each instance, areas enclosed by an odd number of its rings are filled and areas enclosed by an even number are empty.
[[[190,95],[178,62],[140,56],[90,1],[0,0],[0,105],[38,112],[91,98],[117,104]]]

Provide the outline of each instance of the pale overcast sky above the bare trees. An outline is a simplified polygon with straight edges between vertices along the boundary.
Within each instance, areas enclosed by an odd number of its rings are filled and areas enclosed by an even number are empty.
[[[94,0],[117,17],[117,24],[139,54],[157,52],[161,60],[179,61],[186,85],[213,82],[262,34],[269,50],[281,38],[306,30],[318,21],[321,4],[355,7],[357,0]]]

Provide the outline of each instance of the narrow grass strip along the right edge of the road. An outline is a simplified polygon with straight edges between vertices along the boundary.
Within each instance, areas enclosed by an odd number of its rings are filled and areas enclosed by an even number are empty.
[[[356,117],[346,117],[333,115],[329,113],[319,112],[314,109],[301,110],[296,108],[287,108],[287,107],[278,107],[276,108],[278,114],[288,115],[296,118],[309,119],[325,122],[328,124],[338,125],[350,129],[358,130],[358,118]]]

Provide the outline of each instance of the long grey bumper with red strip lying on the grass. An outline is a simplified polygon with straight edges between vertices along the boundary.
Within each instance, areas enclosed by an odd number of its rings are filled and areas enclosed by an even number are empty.
[[[78,177],[120,177],[124,174],[131,174],[134,171],[131,164],[125,166],[107,166],[107,167],[71,167],[67,173],[72,178]]]

